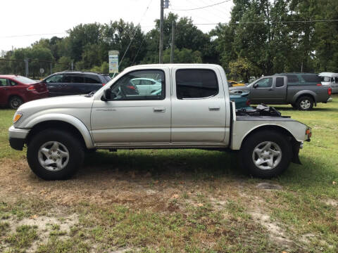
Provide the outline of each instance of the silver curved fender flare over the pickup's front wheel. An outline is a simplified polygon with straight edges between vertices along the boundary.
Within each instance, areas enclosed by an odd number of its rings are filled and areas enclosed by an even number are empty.
[[[89,129],[87,129],[87,126],[85,126],[80,119],[77,119],[77,117],[74,117],[72,115],[66,115],[62,113],[49,113],[47,115],[40,115],[32,119],[25,126],[25,128],[32,129],[35,125],[39,123],[55,120],[73,125],[82,135],[82,138],[87,148],[94,148],[94,142],[92,140],[92,136],[90,135]]]

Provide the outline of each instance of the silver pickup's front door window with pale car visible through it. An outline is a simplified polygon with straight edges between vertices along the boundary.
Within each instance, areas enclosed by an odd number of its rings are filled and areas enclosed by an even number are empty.
[[[142,89],[142,81],[154,81],[159,85],[156,89]],[[164,98],[165,75],[162,70],[129,72],[111,87],[111,100],[163,100]]]

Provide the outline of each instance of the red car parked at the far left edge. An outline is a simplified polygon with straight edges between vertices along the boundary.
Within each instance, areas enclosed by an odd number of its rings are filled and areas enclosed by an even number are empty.
[[[14,74],[0,75],[0,105],[18,109],[20,105],[48,97],[46,84]]]

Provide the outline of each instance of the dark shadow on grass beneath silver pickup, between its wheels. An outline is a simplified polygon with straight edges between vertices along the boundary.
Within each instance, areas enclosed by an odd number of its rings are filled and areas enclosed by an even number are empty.
[[[205,150],[121,150],[96,151],[86,155],[80,174],[113,171],[153,179],[212,179],[218,176],[244,177],[236,154]],[[125,177],[125,180],[128,180]]]

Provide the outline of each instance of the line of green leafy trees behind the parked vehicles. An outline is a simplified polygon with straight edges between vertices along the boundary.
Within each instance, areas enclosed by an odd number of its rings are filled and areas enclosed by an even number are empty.
[[[175,22],[175,63],[216,63],[232,79],[277,72],[338,72],[337,0],[233,0],[230,22],[204,33],[191,18],[168,13],[164,18],[164,63],[170,62],[170,37]],[[80,24],[68,36],[40,39],[27,48],[2,52],[0,73],[24,74],[39,68],[53,72],[108,72],[108,51],[120,51],[120,71],[136,64],[158,63],[159,20],[143,32],[120,19],[106,24]],[[129,48],[128,48],[129,46]],[[128,48],[128,49],[127,49]],[[127,49],[127,51],[126,51]],[[1,59],[0,58],[0,59]],[[4,60],[4,59],[10,59]]]

